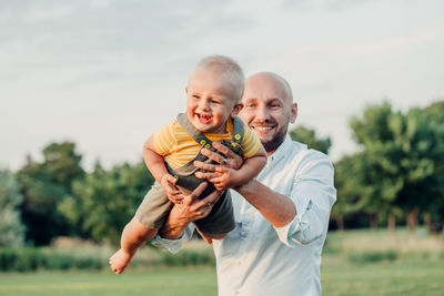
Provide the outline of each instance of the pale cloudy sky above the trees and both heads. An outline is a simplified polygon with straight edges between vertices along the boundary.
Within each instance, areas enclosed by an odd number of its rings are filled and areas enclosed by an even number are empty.
[[[330,136],[336,161],[365,106],[444,100],[443,14],[442,0],[0,0],[0,167],[63,141],[87,170],[141,161],[210,54],[285,78],[294,126]]]

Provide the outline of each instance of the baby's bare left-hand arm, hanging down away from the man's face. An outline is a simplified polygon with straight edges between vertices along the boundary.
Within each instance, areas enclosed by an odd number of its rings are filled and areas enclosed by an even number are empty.
[[[163,192],[168,195],[170,201],[175,204],[182,203],[183,194],[174,185],[176,180],[168,173],[163,156],[155,152],[152,136],[150,136],[143,145],[143,161],[155,181],[162,185]]]

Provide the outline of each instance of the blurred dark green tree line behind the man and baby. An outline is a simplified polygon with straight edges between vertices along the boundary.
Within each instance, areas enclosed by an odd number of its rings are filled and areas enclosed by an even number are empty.
[[[431,232],[444,225],[444,101],[394,111],[367,106],[350,122],[357,152],[334,163],[337,202],[331,227],[393,229],[421,220]],[[330,137],[297,126],[293,140],[329,153]],[[59,236],[118,244],[154,182],[143,162],[91,172],[72,142],[51,143],[43,161],[28,156],[17,172],[0,171],[0,246],[48,245]]]

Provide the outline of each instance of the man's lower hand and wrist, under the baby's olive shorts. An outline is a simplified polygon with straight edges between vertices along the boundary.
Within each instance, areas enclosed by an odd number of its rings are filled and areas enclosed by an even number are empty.
[[[210,214],[222,192],[214,191],[206,197],[199,200],[206,186],[208,183],[203,182],[184,197],[182,204],[175,204],[172,207],[165,224],[159,231],[163,238],[179,239],[190,222],[206,217]]]

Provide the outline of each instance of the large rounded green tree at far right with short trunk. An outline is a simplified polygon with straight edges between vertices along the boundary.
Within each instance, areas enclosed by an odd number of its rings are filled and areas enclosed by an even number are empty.
[[[393,112],[390,103],[369,106],[351,126],[362,147],[363,198],[376,204],[380,214],[408,213],[412,229],[417,213],[443,187],[435,160],[443,157],[444,126],[420,109]]]

